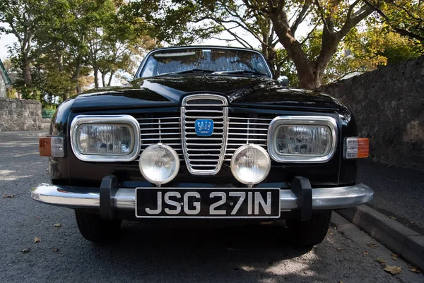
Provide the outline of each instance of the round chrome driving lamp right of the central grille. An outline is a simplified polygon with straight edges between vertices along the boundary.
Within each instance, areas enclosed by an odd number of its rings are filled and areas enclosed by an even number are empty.
[[[242,145],[232,155],[232,175],[246,185],[264,181],[271,169],[271,159],[268,152],[259,145]]]

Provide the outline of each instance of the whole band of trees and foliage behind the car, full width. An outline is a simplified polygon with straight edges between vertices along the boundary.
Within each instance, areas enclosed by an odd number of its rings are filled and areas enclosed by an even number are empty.
[[[155,47],[212,38],[259,49],[303,88],[424,54],[418,0],[5,0],[0,23],[18,39],[13,95],[46,106],[112,85]]]

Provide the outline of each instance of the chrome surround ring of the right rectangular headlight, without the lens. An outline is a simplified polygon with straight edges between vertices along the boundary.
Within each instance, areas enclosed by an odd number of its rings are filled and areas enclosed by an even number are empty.
[[[290,155],[278,153],[276,133],[279,126],[326,126],[331,131],[330,150],[323,156]],[[285,163],[323,163],[333,157],[336,152],[337,124],[336,119],[329,116],[277,116],[269,124],[268,151],[276,162]]]

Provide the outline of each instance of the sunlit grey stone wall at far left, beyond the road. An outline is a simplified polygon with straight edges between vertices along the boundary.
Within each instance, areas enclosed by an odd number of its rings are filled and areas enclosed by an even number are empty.
[[[40,130],[41,103],[0,97],[0,132]]]

